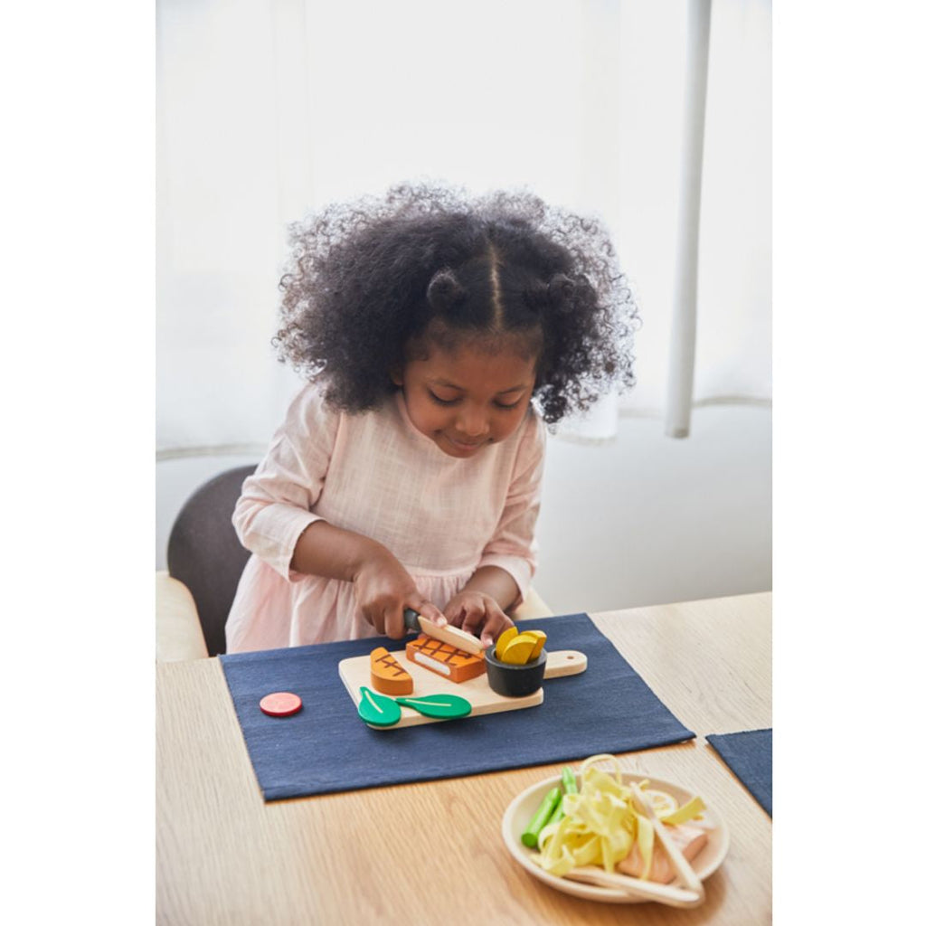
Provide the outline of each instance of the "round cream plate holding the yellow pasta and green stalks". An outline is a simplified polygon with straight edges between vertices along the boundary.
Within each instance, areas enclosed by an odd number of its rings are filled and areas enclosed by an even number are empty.
[[[651,778],[649,775],[638,775],[632,772],[621,771],[621,780],[623,782],[649,782],[649,787],[658,791],[665,791],[672,795],[681,806],[686,801],[694,797],[694,792],[683,788],[678,784],[663,782],[657,778]],[[534,811],[540,807],[540,802],[544,795],[559,783],[559,777],[544,778],[544,781],[533,784],[530,788],[522,791],[508,805],[505,816],[502,818],[502,838],[505,840],[508,852],[511,853],[514,860],[531,874],[534,878],[555,887],[557,891],[563,891],[576,897],[583,897],[586,900],[600,900],[610,904],[639,904],[644,903],[643,898],[636,895],[628,894],[618,888],[596,887],[594,884],[584,884],[578,881],[569,881],[566,878],[557,877],[548,871],[544,871],[539,865],[531,860],[531,857],[539,856],[536,849],[529,849],[520,841],[521,833],[527,828]],[[576,773],[576,783],[582,784],[582,776]],[[730,832],[726,824],[714,810],[705,795],[701,795],[707,804],[704,812],[703,824],[712,827],[708,838],[707,845],[694,857],[692,868],[695,874],[704,881],[708,875],[713,874],[720,868],[720,862],[727,855],[730,848]]]

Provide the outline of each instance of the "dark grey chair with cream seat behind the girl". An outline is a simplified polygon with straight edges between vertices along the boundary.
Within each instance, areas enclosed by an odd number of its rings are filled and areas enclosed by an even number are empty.
[[[225,652],[225,621],[250,554],[238,542],[232,512],[255,466],[219,473],[192,494],[174,520],[168,539],[168,571],[156,573],[158,662],[217,656]],[[549,617],[533,589],[512,618]]]

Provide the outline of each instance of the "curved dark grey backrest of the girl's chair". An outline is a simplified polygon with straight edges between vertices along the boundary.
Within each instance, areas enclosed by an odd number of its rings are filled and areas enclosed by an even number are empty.
[[[228,469],[201,485],[170,529],[168,571],[193,595],[209,656],[225,652],[225,621],[250,557],[238,541],[232,512],[242,482],[255,469]]]

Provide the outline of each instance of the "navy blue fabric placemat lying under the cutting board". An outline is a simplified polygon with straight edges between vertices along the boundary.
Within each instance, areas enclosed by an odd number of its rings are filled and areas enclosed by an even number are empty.
[[[338,675],[338,663],[384,637],[219,657],[257,782],[268,801],[632,752],[694,737],[585,614],[519,620],[543,630],[553,649],[588,657],[581,675],[544,682],[539,707],[372,730]],[[303,709],[270,718],[258,702],[298,694]]]

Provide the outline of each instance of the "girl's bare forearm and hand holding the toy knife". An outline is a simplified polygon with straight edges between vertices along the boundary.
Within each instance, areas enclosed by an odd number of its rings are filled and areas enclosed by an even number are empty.
[[[308,525],[296,541],[290,568],[304,575],[354,582],[357,607],[394,640],[406,635],[404,611],[410,607],[438,626],[446,619],[423,597],[405,567],[382,544],[324,520]]]

